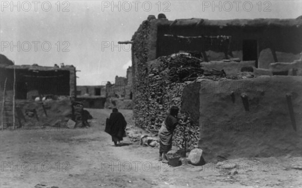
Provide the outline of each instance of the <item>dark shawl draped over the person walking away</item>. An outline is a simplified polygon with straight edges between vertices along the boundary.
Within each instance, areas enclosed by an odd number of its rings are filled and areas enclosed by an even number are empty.
[[[105,132],[111,136],[123,137],[127,122],[120,112],[112,112],[106,122]]]

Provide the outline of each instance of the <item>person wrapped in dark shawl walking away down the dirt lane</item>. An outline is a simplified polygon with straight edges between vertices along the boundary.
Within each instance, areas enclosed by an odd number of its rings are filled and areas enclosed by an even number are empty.
[[[123,114],[118,112],[117,108],[113,108],[107,123],[105,131],[111,135],[114,145],[117,146],[125,137],[127,122]]]

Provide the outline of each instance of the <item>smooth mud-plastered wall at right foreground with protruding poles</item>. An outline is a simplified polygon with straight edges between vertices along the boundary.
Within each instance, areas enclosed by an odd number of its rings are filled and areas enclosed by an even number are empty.
[[[199,107],[190,108],[196,99],[185,97],[183,108],[193,112],[199,109],[198,145],[204,150],[205,159],[212,160],[217,155],[301,156],[301,82],[299,76],[260,76],[244,80],[204,79],[187,85],[184,91],[188,89],[195,96],[198,93]],[[296,130],[286,94],[291,95]],[[248,110],[242,95],[247,96]]]

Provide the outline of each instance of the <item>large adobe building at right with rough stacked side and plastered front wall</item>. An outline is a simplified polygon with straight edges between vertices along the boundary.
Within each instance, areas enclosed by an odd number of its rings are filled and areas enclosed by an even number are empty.
[[[184,148],[186,136],[187,148],[202,148],[206,160],[223,153],[300,156],[301,27],[302,16],[175,21],[149,16],[127,42],[132,44],[135,124],[156,132],[170,107],[178,106],[180,115],[186,112],[194,122],[176,129],[173,144]],[[201,72],[224,70],[224,76],[171,82],[165,75],[186,61],[200,61],[196,70]],[[162,70],[171,62],[174,67]],[[255,76],[238,76],[250,72]]]

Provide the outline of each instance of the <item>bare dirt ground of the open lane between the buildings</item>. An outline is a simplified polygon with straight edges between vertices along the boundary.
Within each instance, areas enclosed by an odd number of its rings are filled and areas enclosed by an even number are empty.
[[[91,128],[0,132],[1,187],[301,187],[301,157],[236,158],[171,167],[158,148],[104,132],[108,109],[88,109]],[[131,121],[131,110],[120,110]],[[298,148],[297,148],[298,149]],[[236,165],[235,165],[236,164]],[[44,184],[45,186],[42,186]]]

